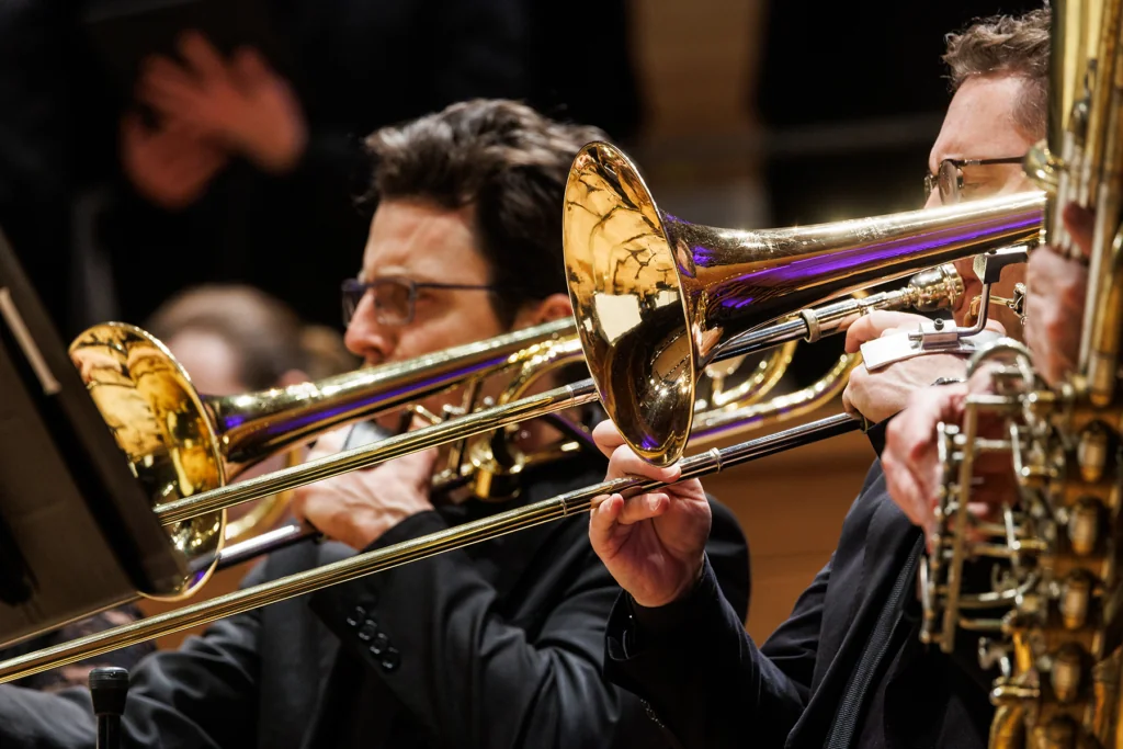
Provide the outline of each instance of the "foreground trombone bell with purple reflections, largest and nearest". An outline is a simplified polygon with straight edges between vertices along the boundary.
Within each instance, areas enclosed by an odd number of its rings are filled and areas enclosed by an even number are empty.
[[[563,241],[577,331],[609,417],[645,460],[677,460],[695,385],[722,345],[883,281],[1035,240],[1040,192],[961,205],[742,231],[683,221],[604,143],[566,184]]]

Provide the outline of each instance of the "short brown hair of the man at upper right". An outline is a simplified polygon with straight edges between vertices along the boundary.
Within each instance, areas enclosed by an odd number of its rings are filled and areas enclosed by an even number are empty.
[[[952,90],[977,75],[1021,76],[1026,89],[1014,110],[1015,122],[1032,136],[1043,136],[1049,107],[1051,22],[1047,3],[1022,16],[992,16],[961,34],[949,34],[943,62],[951,68]]]

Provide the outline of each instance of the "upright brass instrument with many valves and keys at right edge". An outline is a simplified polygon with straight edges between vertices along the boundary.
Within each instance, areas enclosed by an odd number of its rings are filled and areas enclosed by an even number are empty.
[[[1066,204],[1096,210],[1075,371],[1049,386],[1024,346],[998,341],[969,365],[994,367],[995,393],[969,396],[961,427],[939,427],[946,490],[921,568],[921,636],[951,651],[957,636],[980,634],[980,661],[1001,674],[990,693],[995,749],[1123,746],[1121,8],[1053,3],[1050,128],[1026,159],[1049,190],[1052,246],[1072,249]],[[987,419],[1003,424],[999,437],[982,437]],[[1016,491],[999,517],[978,519],[968,504],[979,462],[994,454],[1010,457]],[[970,586],[971,572],[990,572],[989,585]]]

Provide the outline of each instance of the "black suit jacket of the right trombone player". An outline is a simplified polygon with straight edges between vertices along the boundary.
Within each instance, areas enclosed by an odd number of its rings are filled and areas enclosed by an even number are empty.
[[[707,568],[693,595],[672,606],[639,610],[618,600],[606,674],[650,703],[675,746],[822,747],[917,535],[875,463],[830,561],[763,646]],[[953,658],[923,648],[915,596],[909,601],[853,746],[984,749],[994,675],[973,664],[969,637]]]

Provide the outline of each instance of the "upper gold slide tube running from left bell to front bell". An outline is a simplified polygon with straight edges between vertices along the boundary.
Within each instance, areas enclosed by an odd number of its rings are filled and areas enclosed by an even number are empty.
[[[554,411],[593,403],[597,400],[592,380],[564,385],[513,403],[484,409],[430,427],[329,455],[302,465],[284,468],[257,478],[222,486],[194,496],[165,502],[153,508],[164,524],[206,514],[222,508],[249,502],[276,492],[304,486],[339,474],[399,458],[453,440],[492,431],[526,419],[535,419]]]

